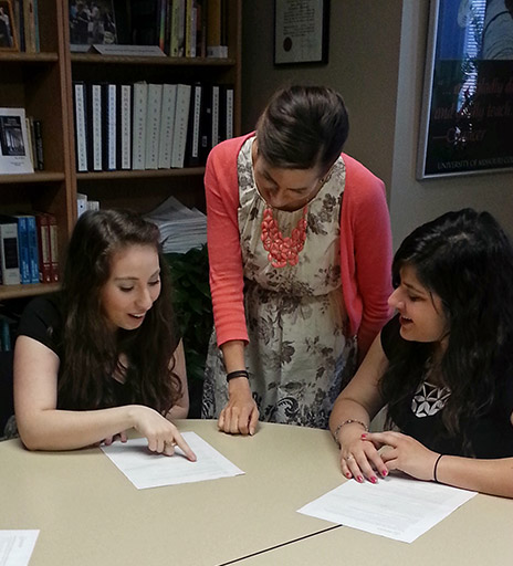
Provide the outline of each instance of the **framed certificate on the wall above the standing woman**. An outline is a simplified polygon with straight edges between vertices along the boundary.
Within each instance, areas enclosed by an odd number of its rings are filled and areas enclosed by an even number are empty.
[[[328,62],[329,0],[274,0],[274,64]]]

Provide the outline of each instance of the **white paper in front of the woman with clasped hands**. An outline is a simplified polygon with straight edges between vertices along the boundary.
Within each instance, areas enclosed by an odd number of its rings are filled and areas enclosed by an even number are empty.
[[[474,495],[404,476],[380,479],[377,484],[352,480],[299,513],[411,543]]]

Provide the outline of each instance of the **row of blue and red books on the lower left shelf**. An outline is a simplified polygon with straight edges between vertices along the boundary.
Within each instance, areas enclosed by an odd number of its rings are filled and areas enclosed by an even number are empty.
[[[0,284],[59,281],[57,222],[54,214],[0,214]]]

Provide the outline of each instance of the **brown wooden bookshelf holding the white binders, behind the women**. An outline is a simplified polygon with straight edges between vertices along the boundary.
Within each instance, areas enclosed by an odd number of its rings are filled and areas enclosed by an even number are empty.
[[[76,221],[76,192],[101,207],[147,212],[175,195],[205,208],[205,167],[76,172],[72,83],[216,82],[234,87],[234,134],[240,134],[241,0],[227,0],[227,59],[148,57],[70,53],[67,1],[39,0],[40,53],[0,52],[0,107],[24,107],[43,125],[44,171],[0,175],[0,212],[44,211],[59,223],[59,256]],[[7,77],[7,80],[4,78]],[[62,262],[61,262],[62,264]],[[62,268],[62,265],[61,265]],[[0,302],[57,286],[0,285]]]

